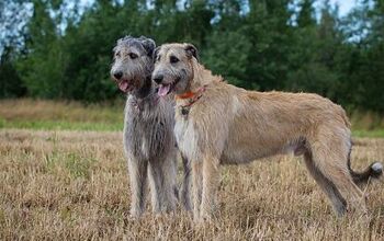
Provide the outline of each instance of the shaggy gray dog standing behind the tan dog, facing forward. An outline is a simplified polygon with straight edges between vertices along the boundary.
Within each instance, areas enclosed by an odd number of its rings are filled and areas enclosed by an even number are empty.
[[[171,99],[160,99],[151,82],[155,47],[150,38],[126,36],[118,39],[113,49],[111,76],[120,90],[128,95],[124,148],[128,162],[133,217],[139,217],[145,209],[147,175],[155,214],[173,210],[178,198],[174,103]],[[185,159],[183,167],[181,198],[184,207],[190,209],[190,170]]]

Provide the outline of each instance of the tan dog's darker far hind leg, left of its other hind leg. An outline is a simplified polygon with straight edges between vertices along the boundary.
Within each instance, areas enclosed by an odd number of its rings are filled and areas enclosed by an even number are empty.
[[[312,160],[312,153],[304,153],[304,162],[308,169],[310,175],[315,179],[317,184],[327,194],[330,199],[334,209],[339,216],[342,216],[347,210],[347,202],[341,196],[340,192],[336,188],[335,184],[330,182],[324,174],[316,168],[314,161]]]

